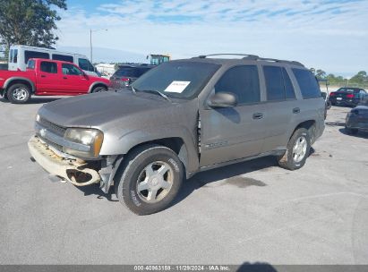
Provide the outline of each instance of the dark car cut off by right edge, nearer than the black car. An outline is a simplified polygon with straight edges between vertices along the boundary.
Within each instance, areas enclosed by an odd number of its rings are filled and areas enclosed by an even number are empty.
[[[359,130],[368,132],[368,98],[347,114],[345,129],[349,134],[356,134]]]

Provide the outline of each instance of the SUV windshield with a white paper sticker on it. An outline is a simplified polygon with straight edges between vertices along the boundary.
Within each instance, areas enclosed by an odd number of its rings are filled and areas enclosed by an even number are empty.
[[[132,86],[137,91],[156,90],[170,98],[193,98],[219,66],[195,62],[159,64],[134,81]]]

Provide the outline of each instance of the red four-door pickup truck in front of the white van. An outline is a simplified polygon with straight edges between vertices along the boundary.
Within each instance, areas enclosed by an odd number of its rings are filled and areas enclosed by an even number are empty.
[[[110,81],[85,74],[75,64],[49,59],[30,59],[27,71],[0,71],[0,94],[22,104],[31,96],[77,96],[105,91]]]

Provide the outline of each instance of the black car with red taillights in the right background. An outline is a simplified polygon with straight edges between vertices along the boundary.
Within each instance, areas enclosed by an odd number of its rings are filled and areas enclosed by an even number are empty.
[[[360,88],[343,87],[329,94],[332,106],[356,106],[361,102],[367,92]]]

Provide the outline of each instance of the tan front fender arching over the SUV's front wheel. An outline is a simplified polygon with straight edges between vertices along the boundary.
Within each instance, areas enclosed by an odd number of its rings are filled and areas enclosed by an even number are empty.
[[[119,136],[111,135],[107,132],[104,136],[100,155],[124,155],[137,145],[167,138],[180,138],[183,140],[186,149],[186,170],[190,173],[197,171],[199,159],[193,133],[186,127],[177,124],[147,127]]]

